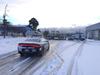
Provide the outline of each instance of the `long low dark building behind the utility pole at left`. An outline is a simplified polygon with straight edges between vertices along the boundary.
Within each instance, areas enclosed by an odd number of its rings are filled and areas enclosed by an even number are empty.
[[[28,26],[21,25],[21,26],[14,26],[9,25],[5,27],[6,36],[26,36],[26,32],[31,32],[32,29]],[[0,25],[0,36],[4,34],[4,26]]]

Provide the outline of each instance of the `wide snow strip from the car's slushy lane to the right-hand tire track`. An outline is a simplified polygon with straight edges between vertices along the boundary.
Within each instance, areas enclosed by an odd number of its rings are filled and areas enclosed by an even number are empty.
[[[72,41],[62,41],[57,47],[54,49],[55,53],[53,53],[52,57],[48,59],[45,65],[37,70],[33,75],[66,75],[67,68],[70,65],[70,61],[73,58],[74,53],[79,47],[80,43],[72,48],[69,46],[75,44],[76,42]],[[69,47],[69,48],[68,48]],[[68,49],[67,49],[68,48]],[[64,50],[64,51],[63,51]],[[60,53],[63,51],[62,53]]]

